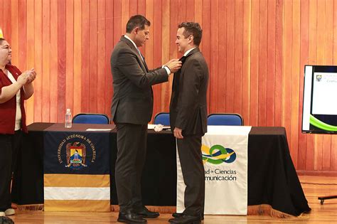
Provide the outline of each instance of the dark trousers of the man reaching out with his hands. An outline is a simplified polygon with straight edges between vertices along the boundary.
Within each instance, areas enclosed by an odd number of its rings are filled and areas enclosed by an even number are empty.
[[[119,123],[115,178],[119,211],[141,208],[141,173],[146,159],[147,124]]]

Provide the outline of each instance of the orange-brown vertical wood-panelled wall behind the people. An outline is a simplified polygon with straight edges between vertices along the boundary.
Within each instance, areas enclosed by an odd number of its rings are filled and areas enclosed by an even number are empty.
[[[150,68],[181,57],[178,23],[199,22],[208,112],[286,127],[296,169],[337,174],[337,137],[301,133],[304,65],[337,65],[337,0],[0,0],[12,63],[38,73],[28,123],[63,122],[66,108],[109,115],[110,55],[134,14],[151,21]],[[169,110],[172,79],[154,86],[154,114]]]

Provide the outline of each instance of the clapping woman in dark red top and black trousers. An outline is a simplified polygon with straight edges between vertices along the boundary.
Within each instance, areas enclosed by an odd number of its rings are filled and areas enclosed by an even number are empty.
[[[36,72],[21,73],[11,65],[11,46],[0,38],[0,216],[14,215],[11,175],[15,170],[22,132],[27,132],[24,100],[33,95]]]

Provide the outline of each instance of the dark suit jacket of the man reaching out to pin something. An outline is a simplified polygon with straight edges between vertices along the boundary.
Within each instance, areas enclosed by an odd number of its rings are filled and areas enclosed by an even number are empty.
[[[151,85],[169,80],[165,68],[149,70],[134,44],[124,36],[114,46],[110,63],[114,87],[112,120],[147,124],[154,105]]]

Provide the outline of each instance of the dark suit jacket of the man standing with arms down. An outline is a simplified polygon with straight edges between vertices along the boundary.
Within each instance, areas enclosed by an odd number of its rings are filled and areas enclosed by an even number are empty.
[[[171,130],[183,135],[207,132],[208,66],[199,48],[181,59],[183,66],[174,74],[170,103]]]

